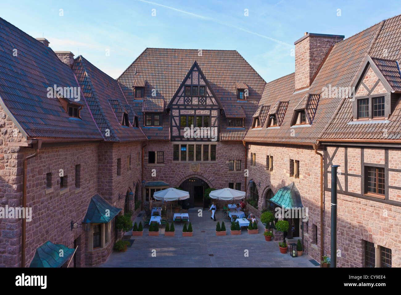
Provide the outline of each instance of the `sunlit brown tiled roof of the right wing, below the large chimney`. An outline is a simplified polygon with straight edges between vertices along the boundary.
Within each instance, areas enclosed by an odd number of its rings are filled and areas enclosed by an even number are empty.
[[[375,36],[378,34],[377,38]],[[318,138],[379,138],[387,129],[390,138],[399,138],[401,102],[394,107],[393,120],[387,124],[347,124],[352,120],[352,102],[346,99],[336,112],[341,97],[312,97],[311,108],[316,108],[312,125],[291,126],[294,111],[302,105],[306,95],[321,94],[324,87],[351,87],[368,55],[376,57],[383,72],[397,86],[395,63],[401,58],[401,16],[375,24],[343,41],[336,43],[308,89],[295,92],[294,73],[265,85],[259,106],[274,107],[278,101],[288,101],[288,108],[279,128],[249,129],[246,141],[314,143]],[[317,107],[316,107],[317,105]],[[308,109],[307,109],[308,111]],[[308,112],[308,116],[310,113]],[[333,120],[331,118],[333,117]],[[390,131],[394,131],[391,133]]]

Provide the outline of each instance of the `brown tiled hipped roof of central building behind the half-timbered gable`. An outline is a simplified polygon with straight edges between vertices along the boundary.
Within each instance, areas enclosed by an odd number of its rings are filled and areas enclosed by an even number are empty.
[[[265,81],[235,50],[202,50],[200,53],[198,49],[146,48],[117,81],[122,85],[128,102],[132,103],[138,113],[140,126],[143,126],[143,103],[134,100],[134,81],[146,81],[145,98],[152,97],[152,89],[156,89],[156,98],[164,100],[165,108],[195,61],[223,107],[228,112],[231,112],[230,108],[242,107],[246,115],[246,128],[242,130],[227,128],[226,118],[221,116],[220,139],[242,140],[251,126],[251,118],[261,98]],[[249,97],[246,102],[237,101],[237,84],[247,86]],[[151,139],[169,139],[169,121],[164,118],[162,126],[158,128],[144,127],[144,133]]]

